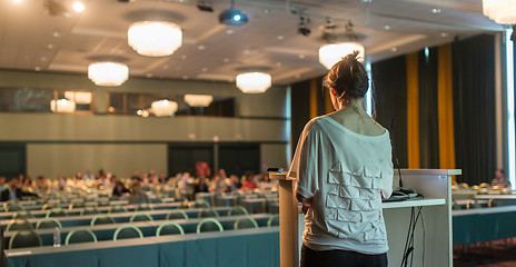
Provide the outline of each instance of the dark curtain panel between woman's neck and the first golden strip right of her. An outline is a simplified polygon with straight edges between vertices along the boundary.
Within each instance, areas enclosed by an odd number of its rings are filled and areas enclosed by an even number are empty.
[[[401,168],[407,159],[407,73],[405,56],[371,65],[376,120],[390,130]]]

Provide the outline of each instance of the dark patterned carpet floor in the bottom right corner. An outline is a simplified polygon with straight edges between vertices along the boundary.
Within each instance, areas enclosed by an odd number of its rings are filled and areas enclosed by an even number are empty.
[[[455,267],[516,267],[516,239],[454,248]]]

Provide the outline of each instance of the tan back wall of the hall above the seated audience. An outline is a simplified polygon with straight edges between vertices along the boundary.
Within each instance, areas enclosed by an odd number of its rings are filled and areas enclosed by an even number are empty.
[[[246,95],[232,83],[131,77],[120,87],[101,88],[86,76],[12,70],[0,70],[0,87],[92,90],[96,103],[95,112],[89,115],[0,112],[3,175],[27,171],[32,177],[72,177],[77,170],[103,168],[118,177],[129,177],[135,168],[169,171],[171,148],[185,144],[208,146],[214,152],[221,150],[232,156],[228,148],[257,148],[250,159],[256,161],[255,171],[287,166],[290,136],[287,87],[274,86],[261,95]],[[109,115],[110,92],[209,93],[234,98],[236,110],[234,117]],[[210,164],[238,164],[238,160],[241,159],[218,159]]]

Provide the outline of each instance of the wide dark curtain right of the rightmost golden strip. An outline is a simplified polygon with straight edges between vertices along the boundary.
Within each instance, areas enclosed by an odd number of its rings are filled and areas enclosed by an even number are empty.
[[[496,168],[494,36],[453,43],[453,79],[458,181],[490,182]]]

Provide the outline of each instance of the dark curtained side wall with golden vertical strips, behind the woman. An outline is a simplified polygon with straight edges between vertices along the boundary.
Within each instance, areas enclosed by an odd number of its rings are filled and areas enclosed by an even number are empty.
[[[371,65],[374,117],[390,129],[401,168],[496,169],[495,36],[480,34]],[[333,111],[321,78],[292,85],[292,149],[305,123]],[[393,123],[391,123],[393,121]]]

